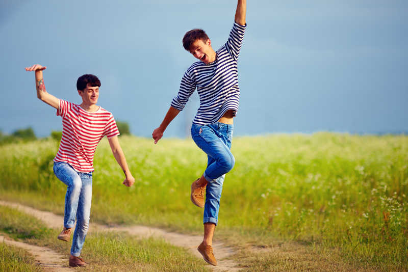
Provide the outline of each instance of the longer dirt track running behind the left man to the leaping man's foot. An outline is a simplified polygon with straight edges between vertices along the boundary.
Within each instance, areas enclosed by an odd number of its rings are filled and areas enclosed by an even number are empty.
[[[17,208],[25,213],[31,214],[37,219],[43,221],[49,228],[62,229],[63,227],[63,216],[56,215],[49,211],[40,211],[29,206],[24,206],[18,203],[12,203],[0,200],[0,205],[9,206]],[[129,227],[108,227],[104,225],[99,225],[92,223],[90,224],[89,231],[126,231],[132,235],[138,235],[141,237],[163,237],[166,241],[174,244],[178,247],[183,247],[188,249],[192,254],[202,259],[202,256],[197,251],[197,247],[202,241],[202,236],[198,235],[188,235],[176,232],[168,232],[159,228],[151,228],[146,226],[129,226]],[[213,271],[238,271],[237,263],[234,260],[227,260],[226,258],[234,254],[232,248],[225,247],[221,242],[213,243],[214,255],[217,258],[218,265],[212,266],[208,265]]]

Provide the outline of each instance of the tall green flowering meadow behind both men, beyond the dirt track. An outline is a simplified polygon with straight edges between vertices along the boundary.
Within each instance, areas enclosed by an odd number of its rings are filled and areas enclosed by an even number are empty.
[[[202,210],[189,194],[207,156],[192,140],[120,143],[135,186],[121,184],[104,139],[95,153],[91,220],[201,233]],[[0,199],[62,214],[65,186],[52,170],[57,147],[52,139],[0,146]],[[408,270],[408,137],[240,137],[232,151],[236,164],[225,178],[216,238],[262,248],[297,241],[339,252],[354,267]]]

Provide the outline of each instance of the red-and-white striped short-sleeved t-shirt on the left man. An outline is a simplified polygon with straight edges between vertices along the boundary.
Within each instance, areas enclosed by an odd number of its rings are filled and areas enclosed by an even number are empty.
[[[62,139],[54,161],[64,161],[77,172],[93,171],[93,154],[99,141],[119,135],[113,115],[102,107],[93,113],[60,99]]]

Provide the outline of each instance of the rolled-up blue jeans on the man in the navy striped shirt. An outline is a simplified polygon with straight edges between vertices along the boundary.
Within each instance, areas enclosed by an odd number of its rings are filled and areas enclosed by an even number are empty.
[[[207,169],[203,176],[208,181],[206,204],[204,205],[204,223],[218,223],[218,211],[225,173],[235,164],[231,153],[231,141],[234,125],[215,123],[191,126],[191,137],[196,145],[208,156]]]

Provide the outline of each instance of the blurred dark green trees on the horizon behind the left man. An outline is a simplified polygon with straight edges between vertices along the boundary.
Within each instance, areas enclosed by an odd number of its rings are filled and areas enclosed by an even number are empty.
[[[118,126],[120,135],[131,134],[129,124],[126,122],[116,121],[116,125]],[[52,131],[49,136],[57,141],[61,141],[62,131]],[[5,134],[0,130],[0,145],[30,142],[34,140],[37,140],[37,136],[32,127],[17,129],[11,134]]]

